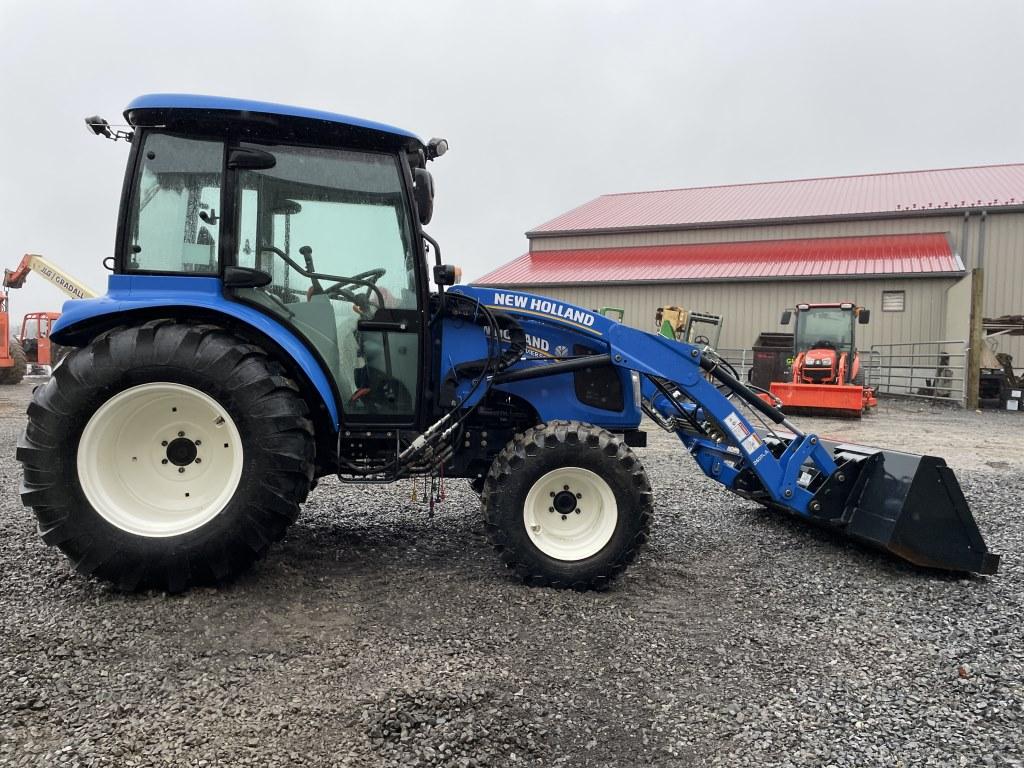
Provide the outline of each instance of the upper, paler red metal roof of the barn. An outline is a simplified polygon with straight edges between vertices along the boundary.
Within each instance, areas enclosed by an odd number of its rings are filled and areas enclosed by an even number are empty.
[[[605,195],[526,234],[1021,205],[1024,164],[991,165]]]

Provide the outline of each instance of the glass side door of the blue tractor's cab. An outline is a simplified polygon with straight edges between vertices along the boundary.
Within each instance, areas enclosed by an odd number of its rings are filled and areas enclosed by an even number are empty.
[[[232,170],[232,153],[241,161]],[[396,156],[286,144],[228,150],[234,264],[269,276],[228,288],[305,338],[350,422],[416,419],[422,311]],[[253,167],[255,166],[255,167]]]

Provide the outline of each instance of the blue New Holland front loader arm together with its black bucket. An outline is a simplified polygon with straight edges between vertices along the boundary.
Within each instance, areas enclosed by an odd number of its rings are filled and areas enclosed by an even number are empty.
[[[952,471],[936,457],[829,445],[805,434],[736,379],[710,350],[614,323],[554,300],[459,287],[534,327],[577,333],[599,351],[523,358],[493,378],[500,388],[592,366],[640,379],[644,413],[674,432],[710,478],[733,493],[837,529],[919,565],[995,572]],[[759,432],[744,411],[756,414]],[[768,424],[784,428],[774,433]]]

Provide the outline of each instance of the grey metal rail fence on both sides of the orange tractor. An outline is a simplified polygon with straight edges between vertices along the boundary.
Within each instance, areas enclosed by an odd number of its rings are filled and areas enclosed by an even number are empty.
[[[718,353],[736,369],[740,381],[748,380],[754,362],[752,349],[719,349]],[[864,385],[876,393],[964,404],[966,341],[873,344],[860,351],[860,365]]]

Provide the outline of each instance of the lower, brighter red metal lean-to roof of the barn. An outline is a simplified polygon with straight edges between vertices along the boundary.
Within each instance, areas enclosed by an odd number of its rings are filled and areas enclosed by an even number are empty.
[[[814,238],[534,251],[473,281],[558,285],[779,278],[893,276],[964,271],[945,233]]]

